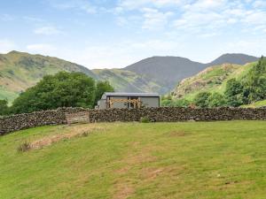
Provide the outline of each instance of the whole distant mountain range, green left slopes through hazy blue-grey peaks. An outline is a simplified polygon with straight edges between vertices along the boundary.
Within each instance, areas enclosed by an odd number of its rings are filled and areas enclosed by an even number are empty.
[[[44,75],[82,72],[96,80],[109,80],[116,91],[157,92],[166,94],[184,78],[191,77],[215,63],[242,64],[257,60],[243,54],[225,54],[209,64],[184,57],[149,57],[121,69],[88,68],[57,57],[11,51],[0,54],[0,99],[10,103],[26,88],[32,87]]]

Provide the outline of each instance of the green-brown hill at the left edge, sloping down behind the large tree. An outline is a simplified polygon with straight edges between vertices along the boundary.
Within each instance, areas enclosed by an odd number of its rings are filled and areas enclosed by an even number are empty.
[[[20,92],[35,85],[44,75],[59,71],[82,72],[97,78],[86,67],[56,57],[18,51],[0,54],[0,99],[12,102]]]

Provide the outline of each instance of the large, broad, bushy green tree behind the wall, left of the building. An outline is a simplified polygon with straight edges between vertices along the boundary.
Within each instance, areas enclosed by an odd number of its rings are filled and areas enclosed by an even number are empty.
[[[13,113],[56,109],[58,107],[92,108],[95,81],[84,73],[60,72],[43,77],[14,100]]]

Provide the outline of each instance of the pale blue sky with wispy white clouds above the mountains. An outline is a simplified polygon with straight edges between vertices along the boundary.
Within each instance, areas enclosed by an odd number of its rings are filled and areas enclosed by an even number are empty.
[[[0,0],[0,53],[93,68],[153,56],[266,53],[266,0]]]

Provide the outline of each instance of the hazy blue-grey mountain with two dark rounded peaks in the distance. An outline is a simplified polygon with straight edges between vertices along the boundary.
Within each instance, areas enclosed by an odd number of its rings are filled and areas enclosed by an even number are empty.
[[[235,64],[245,65],[257,61],[258,57],[245,54],[224,54],[213,62],[202,64],[184,57],[149,57],[133,65],[125,67],[125,70],[146,75],[165,88],[175,88],[176,83],[184,78],[191,77],[211,65]]]

